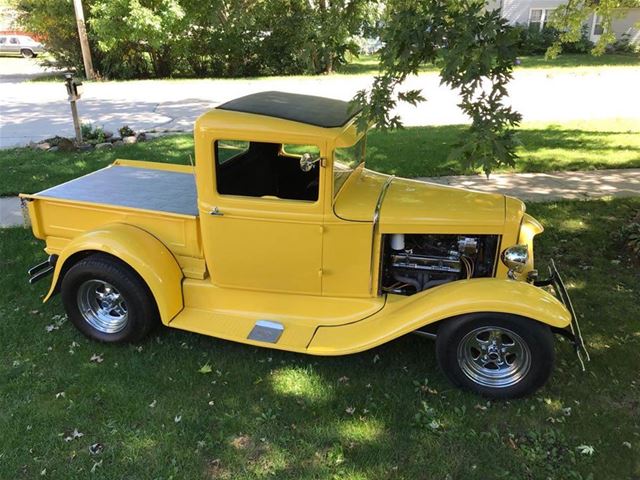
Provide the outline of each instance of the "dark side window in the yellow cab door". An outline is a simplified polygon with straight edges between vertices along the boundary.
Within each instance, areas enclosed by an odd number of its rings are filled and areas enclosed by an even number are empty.
[[[315,145],[217,140],[216,189],[221,195],[316,201],[319,162],[302,168],[304,154],[320,159]]]

